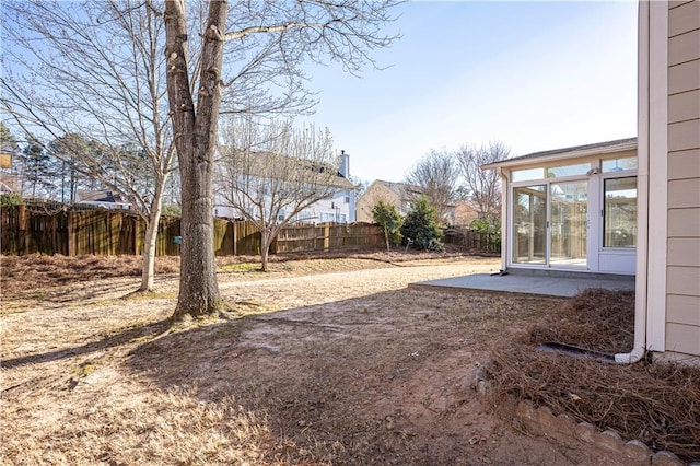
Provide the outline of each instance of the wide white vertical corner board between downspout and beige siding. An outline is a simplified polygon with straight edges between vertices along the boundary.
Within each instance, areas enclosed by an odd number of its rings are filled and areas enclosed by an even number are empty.
[[[649,4],[649,191],[646,348],[666,347],[666,248],[668,221],[668,2]],[[644,141],[646,142],[646,141]],[[639,182],[638,182],[639,183]],[[639,263],[638,263],[639,266]]]

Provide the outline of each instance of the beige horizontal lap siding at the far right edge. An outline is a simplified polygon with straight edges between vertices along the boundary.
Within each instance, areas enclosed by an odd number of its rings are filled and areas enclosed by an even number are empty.
[[[665,349],[700,356],[700,2],[668,7]]]

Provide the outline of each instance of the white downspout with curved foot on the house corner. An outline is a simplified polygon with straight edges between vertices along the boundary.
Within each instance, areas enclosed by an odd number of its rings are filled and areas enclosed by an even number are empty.
[[[650,166],[650,1],[639,2],[638,138],[637,138],[637,277],[634,342],[632,350],[615,354],[618,364],[633,364],[646,353],[646,306],[649,302],[649,166]],[[640,214],[641,212],[641,214]]]

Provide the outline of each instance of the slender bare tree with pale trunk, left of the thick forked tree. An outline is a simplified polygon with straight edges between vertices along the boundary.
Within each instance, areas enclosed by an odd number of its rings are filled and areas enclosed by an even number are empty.
[[[120,193],[147,221],[141,290],[153,288],[161,200],[175,148],[150,0],[5,2],[2,104],[26,135],[56,141],[71,174]]]

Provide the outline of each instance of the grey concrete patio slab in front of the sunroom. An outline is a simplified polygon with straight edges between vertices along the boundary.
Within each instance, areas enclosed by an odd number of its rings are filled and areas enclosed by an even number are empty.
[[[618,276],[611,278],[599,278],[599,275],[595,278],[586,278],[527,275],[492,276],[488,273],[477,273],[464,277],[421,281],[411,283],[410,287],[570,298],[587,288],[634,290],[634,280],[631,277],[620,278]]]

